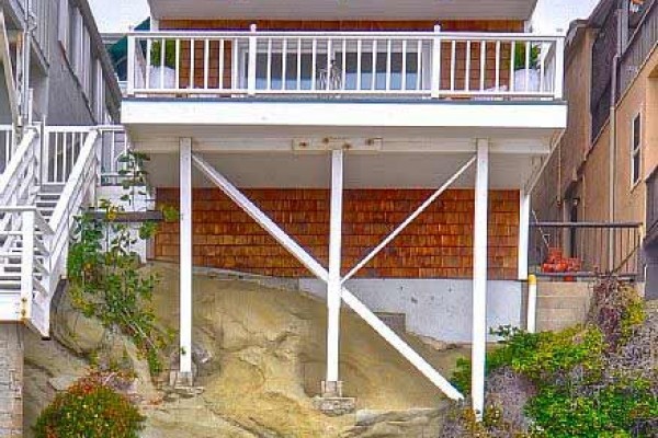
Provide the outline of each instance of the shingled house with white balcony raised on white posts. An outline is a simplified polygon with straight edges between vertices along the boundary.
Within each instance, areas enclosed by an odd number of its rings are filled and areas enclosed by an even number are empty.
[[[481,411],[487,330],[522,325],[527,193],[566,127],[564,39],[524,33],[534,5],[150,1],[122,123],[181,211],[152,253],[181,266],[181,381],[209,266],[328,297],[324,395],[341,395],[342,301],[453,399],[370,309],[473,342]]]

